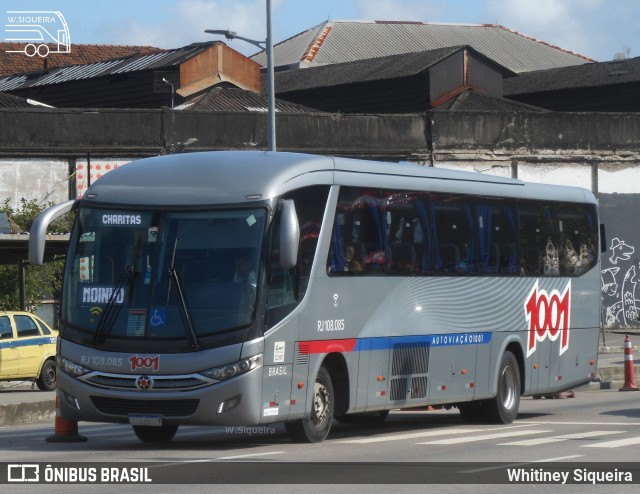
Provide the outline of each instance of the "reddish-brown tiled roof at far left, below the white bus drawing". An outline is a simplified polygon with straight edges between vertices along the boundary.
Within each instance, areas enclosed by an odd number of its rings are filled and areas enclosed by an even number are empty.
[[[6,53],[20,50],[23,43],[0,42],[0,76],[37,72],[44,69],[103,62],[132,55],[149,55],[165,50],[153,46],[81,45],[72,44],[70,53],[49,53],[45,58],[28,57],[24,53]]]

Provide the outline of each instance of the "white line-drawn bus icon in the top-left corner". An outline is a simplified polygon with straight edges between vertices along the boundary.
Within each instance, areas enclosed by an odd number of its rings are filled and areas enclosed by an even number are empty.
[[[69,26],[62,12],[57,10],[8,10],[4,26],[4,40],[24,43],[21,50],[28,57],[38,54],[71,53]]]

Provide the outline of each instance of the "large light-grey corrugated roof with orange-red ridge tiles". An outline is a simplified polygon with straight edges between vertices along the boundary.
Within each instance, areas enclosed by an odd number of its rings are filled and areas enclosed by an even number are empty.
[[[469,45],[518,73],[592,62],[494,24],[327,21],[276,44],[274,63],[305,67],[460,45]],[[252,58],[263,66],[266,64],[263,52]]]

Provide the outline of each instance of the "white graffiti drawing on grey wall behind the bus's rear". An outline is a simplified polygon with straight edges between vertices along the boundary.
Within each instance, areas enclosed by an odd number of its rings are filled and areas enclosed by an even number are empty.
[[[635,247],[614,238],[609,247],[611,267],[602,270],[602,310],[605,327],[637,326],[640,290],[632,255]],[[640,266],[639,266],[640,267]]]

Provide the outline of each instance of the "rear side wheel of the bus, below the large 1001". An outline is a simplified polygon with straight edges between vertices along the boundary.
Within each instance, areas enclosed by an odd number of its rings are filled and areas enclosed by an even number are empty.
[[[520,368],[511,352],[505,352],[498,369],[498,390],[493,400],[483,402],[487,419],[498,424],[510,424],[520,406]]]

